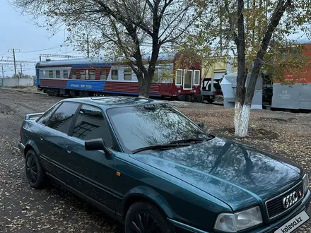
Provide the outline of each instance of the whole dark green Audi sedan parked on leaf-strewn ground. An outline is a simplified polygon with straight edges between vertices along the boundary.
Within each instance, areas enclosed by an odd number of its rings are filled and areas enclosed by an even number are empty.
[[[289,233],[310,218],[302,168],[210,135],[168,102],[61,100],[25,116],[18,146],[31,187],[52,179],[126,233]]]

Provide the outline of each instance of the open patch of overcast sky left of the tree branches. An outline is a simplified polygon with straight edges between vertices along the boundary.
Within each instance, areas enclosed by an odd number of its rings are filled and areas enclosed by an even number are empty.
[[[17,61],[39,61],[40,54],[81,55],[73,52],[72,47],[64,46],[64,30],[50,37],[45,28],[38,28],[28,16],[21,16],[6,0],[0,0],[0,22],[0,63],[1,59],[13,60],[13,53],[8,52],[8,49],[13,48],[20,49],[20,52],[16,52]],[[0,76],[2,76],[1,65]],[[4,76],[12,76],[13,67],[13,65],[4,66]],[[20,71],[19,64],[17,68]],[[25,64],[23,73],[35,75],[35,63]]]

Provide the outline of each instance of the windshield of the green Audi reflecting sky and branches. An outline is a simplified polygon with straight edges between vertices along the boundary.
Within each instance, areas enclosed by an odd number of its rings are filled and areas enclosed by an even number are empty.
[[[168,104],[146,104],[107,110],[124,152],[191,138],[209,138],[196,124]]]

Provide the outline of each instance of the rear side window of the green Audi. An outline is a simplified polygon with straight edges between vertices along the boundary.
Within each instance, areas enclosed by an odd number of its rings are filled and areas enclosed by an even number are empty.
[[[57,131],[68,133],[78,106],[78,103],[63,102],[49,119],[47,126]]]

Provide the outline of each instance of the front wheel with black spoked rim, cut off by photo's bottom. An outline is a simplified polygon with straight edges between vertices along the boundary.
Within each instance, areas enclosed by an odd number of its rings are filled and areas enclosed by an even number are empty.
[[[139,220],[143,223],[139,224]],[[148,224],[146,225],[146,222]],[[145,225],[144,225],[145,224]],[[134,228],[139,227],[139,230],[134,230]],[[148,229],[150,227],[150,229]],[[151,231],[151,228],[154,229]],[[147,229],[148,230],[147,230]],[[142,230],[144,229],[144,230]],[[127,210],[127,215],[124,221],[125,233],[132,232],[157,232],[157,233],[172,233],[168,220],[166,220],[163,213],[161,213],[158,208],[153,204],[147,202],[136,202],[129,210]]]

